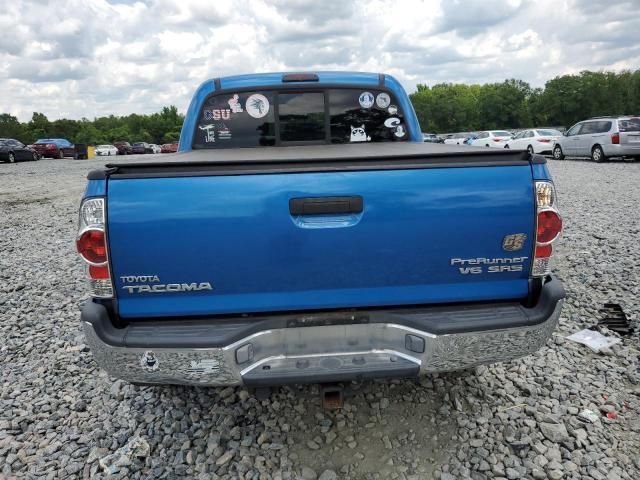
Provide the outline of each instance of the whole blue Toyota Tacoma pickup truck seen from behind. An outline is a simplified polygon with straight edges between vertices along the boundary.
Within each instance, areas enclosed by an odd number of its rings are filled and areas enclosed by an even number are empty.
[[[260,387],[540,348],[564,298],[544,157],[422,140],[389,75],[203,83],[171,160],[88,175],[96,362],[134,383]]]

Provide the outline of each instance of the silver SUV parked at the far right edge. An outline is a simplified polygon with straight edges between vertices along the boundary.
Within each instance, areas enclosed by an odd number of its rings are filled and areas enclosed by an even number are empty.
[[[640,117],[594,117],[576,123],[553,145],[553,158],[591,157],[604,162],[608,157],[640,160]]]

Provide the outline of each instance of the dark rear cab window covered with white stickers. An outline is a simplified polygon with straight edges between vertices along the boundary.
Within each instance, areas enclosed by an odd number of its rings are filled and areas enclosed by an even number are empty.
[[[193,148],[406,141],[391,92],[319,88],[220,92],[203,103]]]

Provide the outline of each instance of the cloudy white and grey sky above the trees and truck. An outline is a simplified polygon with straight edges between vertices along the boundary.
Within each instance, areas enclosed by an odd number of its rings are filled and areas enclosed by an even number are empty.
[[[201,81],[350,69],[417,83],[640,68],[640,0],[11,0],[0,113],[185,111]]]

